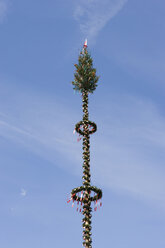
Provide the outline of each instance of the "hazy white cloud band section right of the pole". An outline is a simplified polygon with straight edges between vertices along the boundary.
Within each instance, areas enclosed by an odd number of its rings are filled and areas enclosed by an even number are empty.
[[[146,100],[112,99],[99,113],[103,127],[92,158],[97,183],[164,208],[165,119]]]

